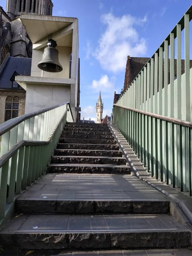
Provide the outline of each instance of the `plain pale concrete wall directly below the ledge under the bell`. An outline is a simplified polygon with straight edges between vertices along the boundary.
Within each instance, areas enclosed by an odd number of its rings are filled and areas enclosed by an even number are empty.
[[[28,84],[25,113],[32,113],[68,101],[70,101],[70,86]]]

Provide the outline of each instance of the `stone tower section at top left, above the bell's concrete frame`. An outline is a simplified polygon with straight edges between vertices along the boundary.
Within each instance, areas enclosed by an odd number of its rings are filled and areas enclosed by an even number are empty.
[[[6,12],[13,20],[20,14],[52,15],[51,0],[7,0]]]

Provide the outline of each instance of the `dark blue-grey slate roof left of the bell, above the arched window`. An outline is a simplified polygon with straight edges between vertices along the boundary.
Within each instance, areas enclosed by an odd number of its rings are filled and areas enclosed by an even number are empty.
[[[0,74],[0,88],[12,88],[12,78],[15,70],[20,76],[31,76],[31,58],[9,57]]]

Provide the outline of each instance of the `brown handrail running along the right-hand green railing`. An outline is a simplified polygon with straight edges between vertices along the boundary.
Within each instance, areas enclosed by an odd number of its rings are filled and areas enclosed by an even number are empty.
[[[172,123],[175,123],[175,124],[178,124],[178,125],[183,125],[183,126],[192,128],[192,122],[188,122],[188,121],[184,121],[184,120],[180,120],[180,119],[176,119],[176,118],[172,118],[172,117],[167,117],[167,116],[161,116],[161,115],[150,113],[150,112],[147,112],[147,111],[138,110],[136,108],[127,108],[127,107],[124,107],[122,105],[113,104],[113,106],[120,107],[120,108],[125,108],[125,109],[131,110],[131,111],[135,111],[137,113],[144,114],[146,116],[152,116],[152,117],[155,117],[157,119],[161,119],[163,121],[172,122]]]

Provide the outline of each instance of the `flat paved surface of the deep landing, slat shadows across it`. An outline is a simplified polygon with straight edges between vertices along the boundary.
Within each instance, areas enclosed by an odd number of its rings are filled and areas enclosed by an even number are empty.
[[[55,173],[42,177],[19,200],[167,201],[131,175]]]

